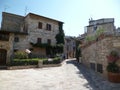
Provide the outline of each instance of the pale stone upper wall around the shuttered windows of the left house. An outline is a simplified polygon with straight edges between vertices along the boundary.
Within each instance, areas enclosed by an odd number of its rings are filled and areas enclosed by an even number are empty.
[[[51,39],[51,44],[56,44],[55,36],[59,32],[59,25],[57,21],[45,19],[42,17],[37,18],[36,16],[32,16],[27,19],[28,22],[28,33],[29,33],[29,41],[36,43],[37,38],[42,39],[42,43],[47,43],[47,39]],[[43,28],[38,28],[38,23],[42,22]],[[46,24],[51,25],[51,31],[46,30]]]

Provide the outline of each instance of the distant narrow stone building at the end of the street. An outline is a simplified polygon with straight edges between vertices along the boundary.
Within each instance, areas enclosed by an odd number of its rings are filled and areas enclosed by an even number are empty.
[[[65,36],[64,54],[66,58],[75,58],[76,38]]]

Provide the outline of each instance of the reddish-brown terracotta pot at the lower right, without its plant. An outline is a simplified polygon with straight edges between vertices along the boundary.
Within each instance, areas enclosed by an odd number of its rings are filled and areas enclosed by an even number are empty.
[[[120,73],[108,72],[108,80],[113,83],[120,83]]]

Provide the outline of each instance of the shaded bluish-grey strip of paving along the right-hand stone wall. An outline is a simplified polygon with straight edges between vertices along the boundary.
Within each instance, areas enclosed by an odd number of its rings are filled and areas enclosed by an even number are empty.
[[[67,62],[72,63],[79,69],[78,73],[80,77],[82,75],[82,77],[84,77],[88,81],[88,87],[92,87],[92,89],[90,88],[90,90],[120,90],[119,83],[109,82],[91,69],[85,67],[82,64],[78,64],[76,61]]]

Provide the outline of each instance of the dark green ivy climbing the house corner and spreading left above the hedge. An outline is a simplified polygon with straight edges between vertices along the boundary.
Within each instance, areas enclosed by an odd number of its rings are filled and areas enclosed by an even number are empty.
[[[63,49],[64,49],[64,31],[63,31],[63,23],[59,22],[59,33],[56,35],[55,39],[57,41],[55,46],[52,46],[50,44],[47,43],[30,43],[32,46],[34,47],[41,47],[41,48],[46,48],[47,53],[54,55],[57,53],[63,53]]]

